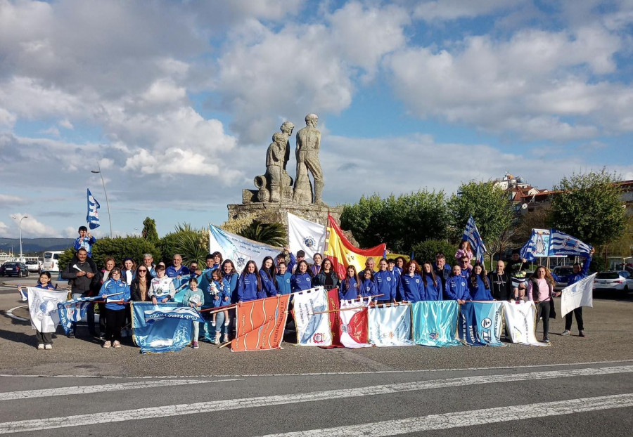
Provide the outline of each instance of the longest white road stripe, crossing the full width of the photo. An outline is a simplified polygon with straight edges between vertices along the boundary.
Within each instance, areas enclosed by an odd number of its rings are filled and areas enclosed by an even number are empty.
[[[49,419],[19,420],[0,423],[0,434],[37,431],[41,429],[66,428],[69,426],[87,426],[110,422],[127,422],[129,420],[148,419],[148,417],[172,417],[194,415],[204,412],[241,410],[242,408],[269,407],[270,405],[286,405],[293,403],[314,402],[362,396],[379,396],[403,391],[442,389],[445,387],[468,386],[474,384],[495,384],[508,381],[525,381],[530,379],[557,379],[565,377],[589,377],[603,374],[633,372],[633,366],[615,366],[587,368],[575,370],[559,370],[552,372],[530,372],[524,374],[504,374],[480,377],[464,377],[452,379],[436,379],[433,381],[404,382],[380,386],[360,387],[357,389],[340,389],[313,391],[277,396],[259,396],[256,398],[226,399],[191,404],[165,405],[145,407],[136,410],[98,412],[86,415],[51,417]],[[522,407],[523,408],[523,407]],[[504,407],[504,411],[507,407]],[[522,410],[523,411],[523,410]],[[347,434],[350,435],[350,434]]]

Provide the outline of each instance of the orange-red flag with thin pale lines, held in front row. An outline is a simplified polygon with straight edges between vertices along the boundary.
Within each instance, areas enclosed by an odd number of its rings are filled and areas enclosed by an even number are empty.
[[[248,301],[237,306],[236,338],[231,351],[279,349],[288,318],[290,294]]]

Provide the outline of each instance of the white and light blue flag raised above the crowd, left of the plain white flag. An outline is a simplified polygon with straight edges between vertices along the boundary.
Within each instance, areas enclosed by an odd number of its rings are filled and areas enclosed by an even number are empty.
[[[237,273],[242,273],[242,269],[251,259],[257,263],[257,268],[259,268],[262,266],[264,258],[270,256],[275,259],[283,250],[281,247],[269,246],[226,232],[226,230],[212,224],[209,225],[209,248],[210,253],[217,251],[222,254],[224,259],[233,260]]]

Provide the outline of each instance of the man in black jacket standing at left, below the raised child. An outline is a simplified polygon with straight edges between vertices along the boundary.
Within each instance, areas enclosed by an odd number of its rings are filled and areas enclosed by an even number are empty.
[[[80,297],[90,297],[98,290],[101,273],[96,268],[94,261],[88,256],[88,252],[83,247],[77,250],[75,256],[72,257],[68,266],[61,274],[63,279],[67,279],[70,283],[70,292],[72,299]],[[94,331],[94,305],[87,308],[88,330],[91,335]],[[68,334],[69,338],[75,337],[77,323],[72,323],[72,330]]]

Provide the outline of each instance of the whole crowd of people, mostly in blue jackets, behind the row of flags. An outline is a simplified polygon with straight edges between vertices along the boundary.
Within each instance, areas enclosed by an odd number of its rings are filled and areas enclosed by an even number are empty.
[[[357,272],[354,266],[347,266],[345,276],[339,278],[331,259],[321,254],[314,254],[313,262],[306,261],[305,252],[298,251],[296,256],[288,247],[284,248],[276,259],[264,258],[260,266],[255,261],[248,261],[241,274],[238,274],[233,261],[223,259],[219,252],[208,254],[205,266],[190,263],[184,266],[182,257],[175,254],[172,264],[154,263],[151,254],[143,255],[143,261],[136,266],[131,258],[116,266],[113,258],[106,258],[105,268],[98,270],[92,261],[91,245],[94,237],[87,229],[79,228],[79,238],[75,244],[77,252],[61,277],[70,282],[72,298],[100,296],[98,337],[103,339],[103,348],[119,348],[122,330],[131,320],[126,304],[129,301],[151,301],[153,304],[171,301],[175,294],[188,286],[182,303],[196,308],[220,308],[209,316],[215,337],[212,343],[229,341],[229,327],[234,311],[222,307],[241,304],[246,301],[291,294],[322,286],[325,289],[338,288],[340,299],[360,299],[372,297],[375,304],[396,302],[454,300],[459,304],[466,301],[509,301],[528,299],[537,306],[538,318],[543,320],[544,341],[549,342],[549,315],[551,299],[556,296],[554,280],[561,281],[548,268],[539,266],[531,278],[525,278],[522,269],[525,259],[520,259],[518,252],[506,263],[497,261],[494,272],[487,273],[480,262],[471,263],[472,251],[468,242],[462,242],[456,256],[456,264],[447,264],[446,256],[438,253],[435,263],[416,260],[406,262],[402,256],[395,259],[383,258],[378,261],[378,268],[373,258],[368,258],[364,270]],[[593,252],[592,252],[593,253]],[[584,278],[589,268],[589,258],[574,265],[574,275],[568,279],[571,285]],[[198,287],[204,275],[205,287]],[[51,288],[51,275],[43,272],[37,287]],[[582,308],[574,311],[580,336],[584,334]],[[94,323],[94,306],[87,308],[88,329],[96,336]],[[572,313],[566,316],[565,332],[570,334]],[[75,327],[68,337],[75,336]],[[192,347],[198,348],[200,330],[198,322],[193,324]],[[52,348],[51,335],[38,332],[38,348]]]

